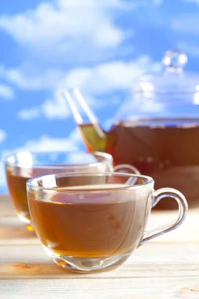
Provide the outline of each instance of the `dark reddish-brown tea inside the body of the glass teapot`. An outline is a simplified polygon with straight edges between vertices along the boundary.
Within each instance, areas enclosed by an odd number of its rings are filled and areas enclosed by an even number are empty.
[[[199,120],[117,123],[108,134],[106,151],[114,162],[132,164],[153,177],[155,189],[176,188],[190,206],[199,205]],[[177,204],[169,199],[158,207]]]

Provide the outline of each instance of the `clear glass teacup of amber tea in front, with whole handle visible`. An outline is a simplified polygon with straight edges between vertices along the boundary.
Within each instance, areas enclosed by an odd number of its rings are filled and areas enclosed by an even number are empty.
[[[172,188],[154,191],[154,180],[127,173],[46,175],[28,180],[27,197],[35,232],[46,253],[73,272],[120,266],[140,245],[177,228],[188,206]],[[176,220],[146,232],[151,208],[171,197]]]

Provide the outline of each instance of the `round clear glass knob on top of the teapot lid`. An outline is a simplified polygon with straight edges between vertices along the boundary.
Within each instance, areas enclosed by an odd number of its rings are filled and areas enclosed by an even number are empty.
[[[162,63],[169,72],[182,72],[187,64],[187,55],[179,50],[166,51]]]

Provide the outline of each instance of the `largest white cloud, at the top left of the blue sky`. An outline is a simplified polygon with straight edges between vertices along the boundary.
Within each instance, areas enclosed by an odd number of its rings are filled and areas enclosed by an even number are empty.
[[[42,2],[33,10],[2,15],[0,28],[44,59],[89,61],[115,52],[123,41],[125,32],[114,24],[112,11],[128,7],[133,5],[122,0]]]

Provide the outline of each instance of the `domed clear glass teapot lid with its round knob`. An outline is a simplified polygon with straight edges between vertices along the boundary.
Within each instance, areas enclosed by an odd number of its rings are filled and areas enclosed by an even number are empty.
[[[162,58],[165,70],[141,76],[133,91],[144,93],[195,93],[199,91],[199,74],[185,72],[187,55],[178,50],[166,51]]]

